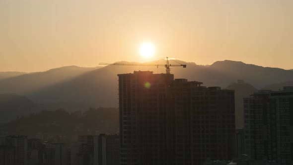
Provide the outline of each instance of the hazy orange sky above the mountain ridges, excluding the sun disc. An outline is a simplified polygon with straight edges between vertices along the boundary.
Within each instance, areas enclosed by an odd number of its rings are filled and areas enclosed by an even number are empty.
[[[156,56],[293,69],[293,0],[0,0],[0,71]]]

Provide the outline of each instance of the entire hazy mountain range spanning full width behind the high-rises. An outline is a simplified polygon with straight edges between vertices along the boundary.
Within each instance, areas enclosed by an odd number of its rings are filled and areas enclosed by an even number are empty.
[[[164,60],[150,62],[165,64]],[[170,61],[171,64],[186,64],[183,61]],[[118,107],[117,74],[133,73],[133,71],[153,71],[165,73],[165,68],[144,66],[105,66],[99,68],[81,68],[76,66],[62,67],[39,73],[18,73],[0,76],[0,93],[24,95],[34,103],[60,107],[68,104],[91,105],[92,107]],[[0,73],[0,75],[4,75]],[[206,86],[221,86],[235,89],[230,83],[244,80],[248,88],[279,88],[280,85],[293,85],[293,72],[279,68],[261,67],[236,61],[218,61],[209,66],[187,63],[187,68],[171,67],[175,78],[203,82]],[[12,76],[13,75],[13,76]],[[284,83],[287,82],[287,83]],[[272,86],[272,84],[275,84]],[[277,85],[276,87],[276,84]],[[247,85],[246,85],[247,87]],[[240,87],[241,88],[241,87]],[[245,86],[243,86],[245,88]],[[248,93],[244,93],[248,94]],[[252,94],[252,93],[250,93]],[[240,97],[242,97],[240,94]],[[239,102],[237,100],[235,102]],[[240,105],[239,105],[240,106]],[[69,106],[70,107],[70,106]],[[80,106],[82,108],[83,106]]]

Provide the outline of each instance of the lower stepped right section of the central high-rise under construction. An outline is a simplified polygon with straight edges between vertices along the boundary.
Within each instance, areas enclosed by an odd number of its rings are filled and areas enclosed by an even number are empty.
[[[176,165],[235,157],[234,91],[201,84],[175,79],[170,85]]]

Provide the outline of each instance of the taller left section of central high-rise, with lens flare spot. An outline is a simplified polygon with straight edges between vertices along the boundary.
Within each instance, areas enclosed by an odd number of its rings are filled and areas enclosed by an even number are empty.
[[[118,76],[121,165],[170,165],[173,130],[166,105],[173,75],[134,72]]]

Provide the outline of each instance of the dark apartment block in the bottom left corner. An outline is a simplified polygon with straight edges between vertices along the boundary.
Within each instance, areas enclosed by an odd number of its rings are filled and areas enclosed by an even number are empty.
[[[14,147],[14,165],[27,165],[27,137],[6,136],[5,145]]]

